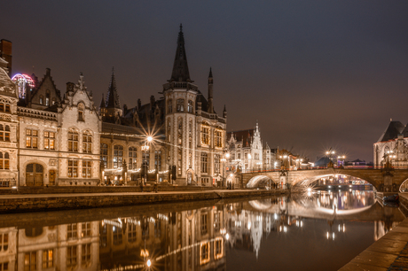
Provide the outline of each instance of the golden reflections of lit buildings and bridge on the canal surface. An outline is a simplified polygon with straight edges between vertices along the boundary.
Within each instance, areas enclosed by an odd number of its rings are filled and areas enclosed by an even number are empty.
[[[326,222],[326,228],[319,228],[321,238],[337,242],[349,223],[341,212],[357,210],[359,216],[358,210],[375,203],[369,191],[315,196],[99,217],[98,221],[57,226],[0,228],[0,270],[145,270],[147,259],[153,270],[225,270],[229,250],[253,252],[257,258],[265,237],[292,235],[310,224]],[[371,220],[374,240],[396,226],[397,214],[389,210],[380,207],[365,215],[375,215]]]

